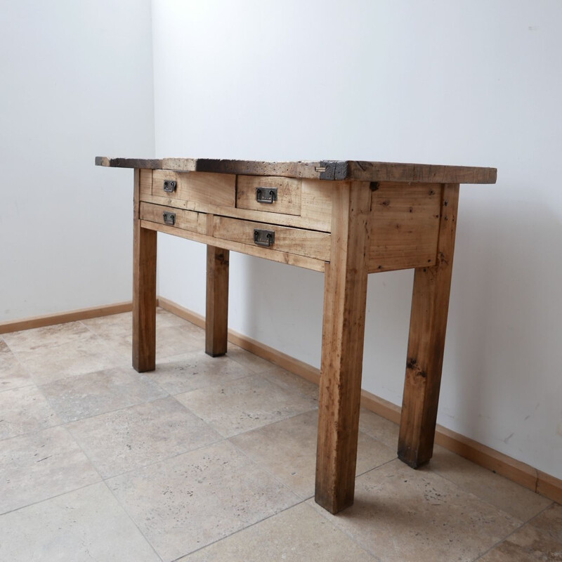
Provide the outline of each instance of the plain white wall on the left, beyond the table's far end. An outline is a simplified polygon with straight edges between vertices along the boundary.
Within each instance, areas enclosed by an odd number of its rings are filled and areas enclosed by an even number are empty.
[[[150,0],[0,15],[0,322],[131,299],[133,174],[152,156]]]

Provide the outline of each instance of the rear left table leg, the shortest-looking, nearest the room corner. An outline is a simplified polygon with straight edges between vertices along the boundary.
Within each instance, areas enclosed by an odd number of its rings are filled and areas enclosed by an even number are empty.
[[[207,245],[207,325],[205,353],[211,357],[226,353],[228,341],[229,251]]]

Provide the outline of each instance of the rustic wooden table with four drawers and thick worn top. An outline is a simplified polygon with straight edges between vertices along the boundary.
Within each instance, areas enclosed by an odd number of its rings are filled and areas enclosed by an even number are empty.
[[[227,345],[228,254],[325,273],[315,499],[353,504],[367,274],[414,268],[398,457],[433,452],[460,183],[496,170],[388,162],[96,158],[134,169],[133,367],[155,369],[156,235],[207,244],[205,351]],[[290,306],[290,304],[289,304]]]

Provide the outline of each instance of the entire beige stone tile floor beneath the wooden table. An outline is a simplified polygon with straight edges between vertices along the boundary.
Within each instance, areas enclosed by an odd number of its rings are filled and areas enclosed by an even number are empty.
[[[318,388],[157,314],[0,336],[0,561],[562,561],[562,507],[362,411],[355,504],[313,501]]]

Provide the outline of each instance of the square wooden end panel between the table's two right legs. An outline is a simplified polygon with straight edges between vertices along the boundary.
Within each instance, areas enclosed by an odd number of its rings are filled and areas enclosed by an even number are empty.
[[[373,192],[369,273],[436,263],[441,185],[379,183]]]

